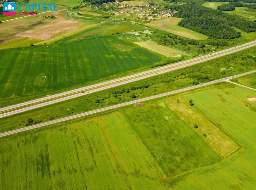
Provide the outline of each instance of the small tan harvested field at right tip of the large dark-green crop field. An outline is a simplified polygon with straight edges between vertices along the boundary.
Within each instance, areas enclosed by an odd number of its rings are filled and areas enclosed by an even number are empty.
[[[177,49],[158,45],[156,42],[153,42],[151,40],[135,42],[135,44],[137,44],[141,47],[145,47],[151,51],[157,52],[166,57],[173,57],[173,56],[177,56],[177,55],[181,55],[181,54],[185,53],[185,52],[179,51]]]

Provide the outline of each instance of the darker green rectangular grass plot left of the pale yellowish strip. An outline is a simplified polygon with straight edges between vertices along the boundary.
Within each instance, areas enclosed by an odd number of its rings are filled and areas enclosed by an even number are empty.
[[[168,177],[221,161],[220,156],[161,100],[126,109],[124,113]]]

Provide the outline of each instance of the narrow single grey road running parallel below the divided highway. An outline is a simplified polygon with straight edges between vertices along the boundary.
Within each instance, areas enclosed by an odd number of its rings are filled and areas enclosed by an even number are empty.
[[[122,106],[125,106],[125,105],[135,104],[137,102],[143,102],[143,101],[164,97],[164,96],[168,96],[168,95],[179,93],[179,92],[184,92],[184,91],[187,91],[187,90],[200,88],[200,87],[203,87],[203,86],[206,86],[206,85],[212,85],[212,84],[223,82],[223,81],[230,82],[229,79],[232,79],[233,77],[240,77],[240,76],[247,75],[247,74],[254,73],[254,72],[256,72],[256,70],[249,71],[249,72],[242,73],[242,74],[238,74],[238,75],[234,75],[234,76],[231,76],[231,77],[226,77],[226,78],[219,79],[219,80],[216,80],[216,81],[211,81],[211,82],[208,82],[208,83],[204,83],[203,85],[191,86],[191,87],[175,90],[175,91],[172,91],[172,92],[167,92],[167,93],[163,93],[163,94],[159,94],[159,95],[155,95],[155,96],[150,96],[150,97],[147,97],[147,98],[142,98],[142,99],[139,99],[139,100],[130,101],[130,102],[126,102],[126,103],[123,103],[123,104],[112,105],[112,106],[109,106],[109,107],[104,107],[104,108],[101,108],[101,109],[96,109],[96,110],[93,110],[93,111],[88,111],[88,112],[85,112],[85,113],[80,113],[80,114],[77,114],[77,115],[73,115],[73,116],[69,116],[69,117],[65,117],[65,118],[61,118],[61,119],[57,119],[57,120],[53,120],[53,121],[49,121],[49,122],[45,122],[45,123],[41,123],[41,124],[36,124],[36,125],[29,126],[29,127],[24,127],[24,128],[8,131],[8,132],[5,132],[5,133],[0,133],[0,137],[4,137],[4,136],[15,134],[15,133],[20,133],[20,132],[23,132],[23,131],[28,131],[28,130],[31,130],[31,129],[43,127],[43,126],[50,125],[50,124],[56,124],[56,123],[59,123],[59,122],[72,120],[72,119],[75,119],[75,118],[91,115],[91,114],[94,114],[94,113],[99,113],[99,112],[102,112],[102,111],[107,111],[107,110],[122,107]],[[233,82],[231,82],[231,83],[233,83]]]

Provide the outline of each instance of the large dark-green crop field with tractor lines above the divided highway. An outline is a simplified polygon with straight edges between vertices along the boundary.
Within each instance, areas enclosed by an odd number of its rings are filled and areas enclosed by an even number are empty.
[[[112,36],[0,53],[1,99],[79,85],[162,59]]]

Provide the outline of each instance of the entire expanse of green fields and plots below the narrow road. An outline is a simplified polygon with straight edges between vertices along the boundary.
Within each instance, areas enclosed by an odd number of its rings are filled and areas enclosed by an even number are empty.
[[[1,188],[252,189],[253,96],[222,83],[1,138]]]

